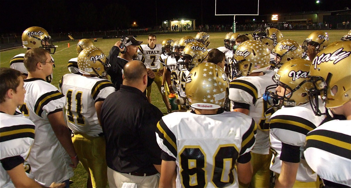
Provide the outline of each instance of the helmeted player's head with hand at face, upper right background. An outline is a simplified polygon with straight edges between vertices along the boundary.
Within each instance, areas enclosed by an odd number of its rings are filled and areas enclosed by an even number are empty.
[[[304,49],[303,59],[312,61],[316,54],[328,45],[328,33],[321,31],[312,32],[307,36],[306,40],[302,44],[302,49]]]

